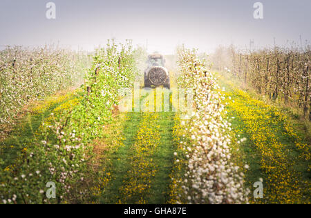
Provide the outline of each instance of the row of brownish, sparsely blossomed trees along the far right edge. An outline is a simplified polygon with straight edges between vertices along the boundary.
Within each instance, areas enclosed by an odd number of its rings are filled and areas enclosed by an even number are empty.
[[[311,119],[310,46],[237,50],[219,47],[211,56],[214,70],[226,70],[259,94],[298,106]]]

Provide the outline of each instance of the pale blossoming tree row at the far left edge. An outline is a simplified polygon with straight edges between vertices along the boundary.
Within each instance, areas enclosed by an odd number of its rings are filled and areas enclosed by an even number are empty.
[[[87,54],[46,46],[0,51],[0,123],[8,123],[30,100],[83,81]]]

